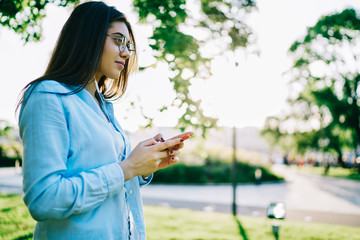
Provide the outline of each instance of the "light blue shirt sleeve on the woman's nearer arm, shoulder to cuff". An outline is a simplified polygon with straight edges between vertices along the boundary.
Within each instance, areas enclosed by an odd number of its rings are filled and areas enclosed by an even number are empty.
[[[46,88],[36,87],[19,116],[24,147],[23,198],[37,221],[90,211],[124,187],[124,174],[116,162],[66,175],[71,142],[66,110],[62,96]]]

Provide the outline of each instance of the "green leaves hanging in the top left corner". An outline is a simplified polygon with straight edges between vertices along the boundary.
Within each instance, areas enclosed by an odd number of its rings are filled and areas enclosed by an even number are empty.
[[[47,4],[66,7],[79,2],[80,0],[1,0],[0,23],[20,34],[25,43],[39,41],[42,34],[41,20],[46,16]]]

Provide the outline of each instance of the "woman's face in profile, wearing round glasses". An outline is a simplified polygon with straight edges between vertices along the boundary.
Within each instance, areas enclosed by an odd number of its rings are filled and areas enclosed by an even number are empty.
[[[124,69],[125,61],[130,58],[129,49],[119,51],[119,42],[125,37],[125,41],[130,41],[129,31],[123,22],[113,22],[109,28],[104,45],[104,51],[100,60],[100,69],[96,73],[96,79],[103,75],[108,78],[118,79]]]

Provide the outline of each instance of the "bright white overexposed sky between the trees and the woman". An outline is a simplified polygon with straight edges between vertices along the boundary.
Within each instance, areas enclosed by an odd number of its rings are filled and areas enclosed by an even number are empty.
[[[147,38],[151,26],[140,25],[130,0],[107,0],[109,5],[124,12],[135,32],[140,64],[151,62]],[[196,2],[193,0],[192,2]],[[194,81],[191,95],[201,99],[207,115],[218,117],[221,126],[261,128],[266,117],[279,114],[290,94],[289,78],[284,75],[291,67],[287,55],[291,44],[305,35],[326,14],[347,7],[360,9],[358,0],[258,0],[257,10],[246,20],[257,37],[260,56],[241,57],[235,67],[222,57],[214,60],[213,76],[205,81]],[[14,109],[21,89],[41,76],[59,32],[71,13],[70,9],[49,6],[43,20],[43,39],[24,45],[19,35],[0,27],[0,120],[17,124]],[[132,109],[137,101],[142,111],[154,117],[156,126],[174,126],[179,111],[170,109],[159,113],[164,104],[175,96],[166,65],[158,64],[131,78],[125,96],[114,104],[115,115],[123,128],[136,131],[144,124],[140,111]]]

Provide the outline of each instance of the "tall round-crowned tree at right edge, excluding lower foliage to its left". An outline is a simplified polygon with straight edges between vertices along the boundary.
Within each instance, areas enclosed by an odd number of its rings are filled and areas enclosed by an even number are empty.
[[[290,48],[293,83],[308,92],[314,106],[327,112],[322,127],[331,129],[328,133],[338,132],[341,138],[342,130],[351,132],[355,151],[360,146],[359,49],[360,17],[354,9],[320,18]]]

